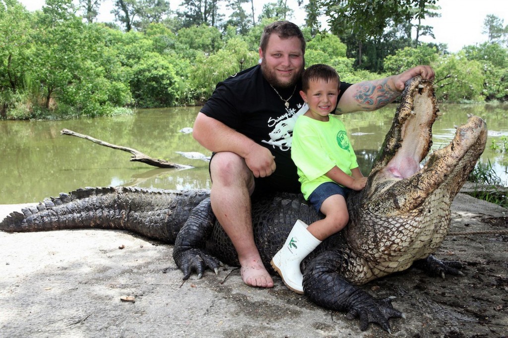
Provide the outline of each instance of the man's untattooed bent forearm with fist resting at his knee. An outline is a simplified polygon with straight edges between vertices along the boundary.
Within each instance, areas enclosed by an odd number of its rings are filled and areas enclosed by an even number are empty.
[[[255,177],[270,176],[275,171],[270,150],[201,112],[194,122],[193,137],[210,151],[229,151],[243,157]]]

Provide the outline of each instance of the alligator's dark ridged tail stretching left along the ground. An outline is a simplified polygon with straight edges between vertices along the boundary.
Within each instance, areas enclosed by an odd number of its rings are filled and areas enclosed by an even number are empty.
[[[133,187],[81,188],[13,212],[0,223],[7,232],[120,229],[174,243],[190,211],[207,190],[170,191]]]

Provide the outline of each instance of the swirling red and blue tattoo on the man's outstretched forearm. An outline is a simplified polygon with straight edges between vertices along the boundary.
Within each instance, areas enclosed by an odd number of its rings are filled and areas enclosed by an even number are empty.
[[[355,100],[361,110],[370,111],[385,107],[396,99],[400,92],[388,84],[388,78],[360,82]]]

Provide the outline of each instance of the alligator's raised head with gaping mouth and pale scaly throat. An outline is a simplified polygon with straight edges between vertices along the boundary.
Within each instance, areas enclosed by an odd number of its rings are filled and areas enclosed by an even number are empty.
[[[448,146],[427,157],[438,115],[432,83],[409,80],[366,187],[348,199],[347,240],[369,266],[348,276],[357,284],[406,269],[447,235],[453,198],[485,149],[487,125],[470,116]]]

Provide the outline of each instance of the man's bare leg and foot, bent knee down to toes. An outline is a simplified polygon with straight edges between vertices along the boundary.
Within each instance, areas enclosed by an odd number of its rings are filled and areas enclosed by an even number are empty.
[[[215,154],[210,172],[212,210],[235,246],[243,282],[250,286],[273,287],[272,277],[261,261],[252,233],[252,173],[243,158],[230,152]]]

